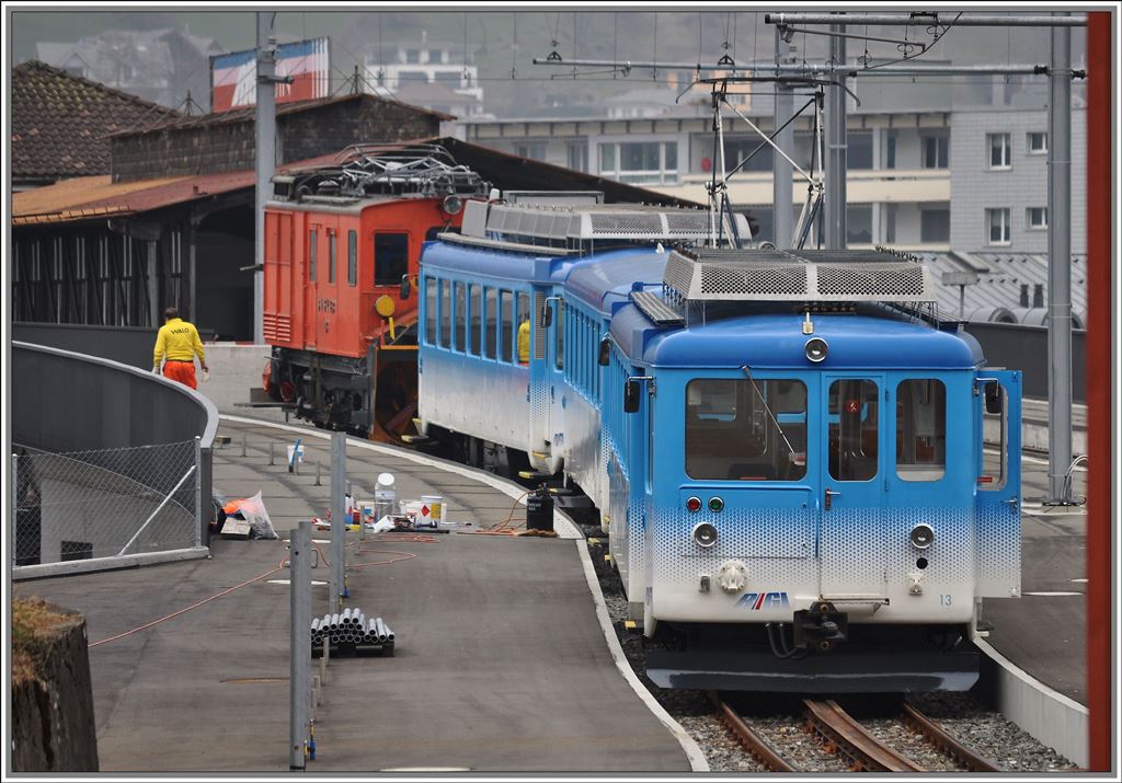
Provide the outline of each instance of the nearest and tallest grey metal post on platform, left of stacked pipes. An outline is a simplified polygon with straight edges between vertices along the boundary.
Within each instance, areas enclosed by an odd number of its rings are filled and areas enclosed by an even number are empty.
[[[312,523],[301,522],[288,545],[288,768],[305,767],[312,650]]]

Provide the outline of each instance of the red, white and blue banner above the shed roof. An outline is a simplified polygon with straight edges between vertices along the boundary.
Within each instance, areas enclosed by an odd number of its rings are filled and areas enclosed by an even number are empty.
[[[280,44],[276,74],[292,76],[292,84],[277,84],[277,103],[327,98],[331,92],[328,39],[313,38]],[[211,111],[228,111],[257,103],[257,49],[211,57]]]

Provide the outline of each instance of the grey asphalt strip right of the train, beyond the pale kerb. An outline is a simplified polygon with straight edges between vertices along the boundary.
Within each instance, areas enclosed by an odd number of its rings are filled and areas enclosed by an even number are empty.
[[[1048,466],[1026,457],[1021,469],[1022,596],[983,600],[982,617],[994,625],[987,641],[1031,676],[1086,704],[1087,584],[1079,581],[1087,575],[1086,509],[1042,506]],[[1086,473],[1073,477],[1073,495],[1083,497]]]

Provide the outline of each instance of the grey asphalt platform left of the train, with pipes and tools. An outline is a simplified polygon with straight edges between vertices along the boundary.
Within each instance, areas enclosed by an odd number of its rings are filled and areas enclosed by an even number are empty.
[[[298,519],[325,516],[328,441],[306,431],[306,461],[291,475],[283,444],[294,433],[231,422],[220,433],[232,442],[215,451],[217,488],[230,497],[261,490],[282,535]],[[348,457],[359,496],[389,471],[398,497],[435,491],[451,519],[477,527],[507,518],[514,504],[497,479],[469,478],[459,466],[448,473],[357,445]],[[324,460],[321,487],[315,459]],[[385,618],[397,647],[393,657],[332,660],[310,772],[691,770],[672,728],[617,667],[582,542],[434,537],[353,543],[349,605]],[[285,555],[282,541],[217,540],[212,560],[15,586],[17,596],[86,617],[103,772],[287,771],[288,584],[274,581],[287,580],[277,569]],[[313,579],[328,581],[325,571]],[[327,589],[313,588],[313,612],[325,611]]]

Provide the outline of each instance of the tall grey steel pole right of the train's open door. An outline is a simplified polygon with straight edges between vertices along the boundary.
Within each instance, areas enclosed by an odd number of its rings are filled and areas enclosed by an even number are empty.
[[[1063,15],[1066,16],[1066,15]],[[1063,18],[1057,17],[1057,19]],[[1072,501],[1072,28],[1052,27],[1048,98],[1048,503]]]

